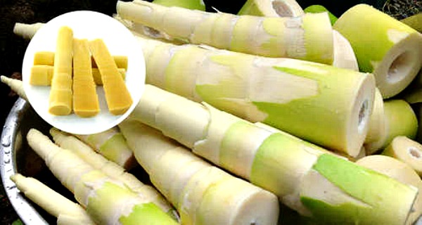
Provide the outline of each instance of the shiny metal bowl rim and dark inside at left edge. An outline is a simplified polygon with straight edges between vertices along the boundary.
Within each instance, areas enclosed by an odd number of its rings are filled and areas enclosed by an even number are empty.
[[[27,200],[9,179],[11,175],[19,172],[25,176],[33,176],[44,184],[49,184],[54,190],[67,195],[66,197],[72,197],[70,191],[61,186],[46,168],[44,161],[28,146],[25,136],[32,127],[39,129],[44,134],[47,134],[50,128],[49,124],[32,110],[30,104],[22,98],[18,98],[6,118],[1,133],[1,180],[11,205],[24,224],[56,224],[56,218],[32,201]]]

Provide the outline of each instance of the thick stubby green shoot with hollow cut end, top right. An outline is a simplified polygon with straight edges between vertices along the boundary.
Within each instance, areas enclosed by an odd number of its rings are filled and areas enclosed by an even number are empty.
[[[359,69],[375,75],[383,98],[406,88],[421,69],[421,34],[372,6],[353,6],[333,27],[352,44]]]

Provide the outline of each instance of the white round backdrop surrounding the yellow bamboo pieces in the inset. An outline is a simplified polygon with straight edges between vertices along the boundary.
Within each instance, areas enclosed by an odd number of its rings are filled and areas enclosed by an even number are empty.
[[[51,115],[49,109],[49,86],[33,86],[29,83],[30,70],[37,51],[55,51],[58,29],[68,26],[78,39],[101,38],[111,55],[127,56],[126,86],[132,96],[133,105],[123,115],[112,115],[107,108],[102,86],[97,86],[101,112],[94,117],[71,115]],[[108,15],[94,11],[74,11],[59,15],[43,25],[32,37],[23,58],[23,87],[32,108],[51,126],[72,134],[95,134],[122,122],[141,98],[145,86],[145,60],[141,46],[124,25]]]

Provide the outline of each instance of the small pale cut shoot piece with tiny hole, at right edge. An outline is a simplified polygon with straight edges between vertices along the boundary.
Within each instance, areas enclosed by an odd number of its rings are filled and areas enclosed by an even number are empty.
[[[422,176],[422,145],[407,136],[396,136],[382,153],[407,163]]]

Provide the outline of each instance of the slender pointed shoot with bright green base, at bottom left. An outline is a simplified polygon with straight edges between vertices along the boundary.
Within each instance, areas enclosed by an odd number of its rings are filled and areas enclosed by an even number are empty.
[[[157,205],[94,169],[70,150],[56,146],[37,129],[28,131],[27,141],[97,224],[177,224]]]

